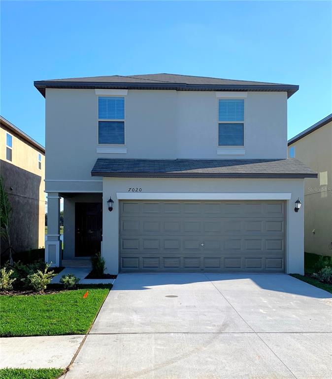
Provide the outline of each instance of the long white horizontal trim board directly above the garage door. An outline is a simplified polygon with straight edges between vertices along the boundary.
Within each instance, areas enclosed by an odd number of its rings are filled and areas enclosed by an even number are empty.
[[[292,193],[196,193],[196,192],[117,192],[118,200],[290,200]]]

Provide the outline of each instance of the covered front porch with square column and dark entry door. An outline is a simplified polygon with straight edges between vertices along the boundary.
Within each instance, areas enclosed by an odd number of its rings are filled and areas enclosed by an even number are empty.
[[[101,252],[102,193],[49,192],[45,262],[51,266],[91,269],[90,257]],[[64,199],[63,244],[60,199]]]

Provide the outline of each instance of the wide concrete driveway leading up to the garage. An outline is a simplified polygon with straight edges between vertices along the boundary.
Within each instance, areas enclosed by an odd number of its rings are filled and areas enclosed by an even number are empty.
[[[288,275],[120,274],[66,379],[327,379],[331,332]]]

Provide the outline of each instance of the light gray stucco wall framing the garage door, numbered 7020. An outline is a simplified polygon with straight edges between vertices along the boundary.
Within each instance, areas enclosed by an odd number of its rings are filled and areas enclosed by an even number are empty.
[[[144,192],[197,193],[291,193],[286,201],[286,271],[303,274],[303,208],[294,212],[295,201],[303,198],[303,179],[152,179],[103,178],[102,255],[107,272],[116,274],[119,267],[119,201],[117,192],[138,187]],[[109,212],[105,199],[114,200]]]

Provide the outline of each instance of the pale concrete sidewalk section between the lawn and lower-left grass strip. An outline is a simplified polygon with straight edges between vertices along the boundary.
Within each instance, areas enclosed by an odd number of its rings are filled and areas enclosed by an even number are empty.
[[[11,337],[0,339],[0,368],[65,369],[85,336]]]

